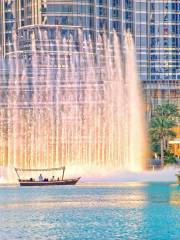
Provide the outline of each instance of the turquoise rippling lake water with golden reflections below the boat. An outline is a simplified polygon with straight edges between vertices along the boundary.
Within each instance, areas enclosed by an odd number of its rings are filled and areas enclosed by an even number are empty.
[[[175,183],[0,187],[0,240],[178,240]]]

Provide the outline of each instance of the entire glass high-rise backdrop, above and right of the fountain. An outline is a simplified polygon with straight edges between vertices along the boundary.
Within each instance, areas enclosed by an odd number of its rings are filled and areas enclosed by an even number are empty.
[[[97,34],[113,29],[134,36],[139,73],[148,105],[163,98],[179,99],[180,1],[177,0],[4,0],[0,3],[0,37],[4,55],[14,30],[59,26],[62,35],[83,29]],[[51,30],[50,30],[51,31]],[[18,32],[18,31],[17,31]],[[23,42],[23,46],[28,44]]]

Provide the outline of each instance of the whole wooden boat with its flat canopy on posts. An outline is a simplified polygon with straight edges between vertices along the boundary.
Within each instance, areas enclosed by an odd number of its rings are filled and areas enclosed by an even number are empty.
[[[62,177],[61,179],[53,179],[53,180],[48,180],[48,179],[44,179],[41,181],[36,181],[33,178],[30,179],[22,179],[20,177],[20,172],[44,172],[44,171],[59,171],[62,170]],[[72,179],[64,179],[64,173],[65,173],[65,167],[61,167],[61,168],[49,168],[49,169],[20,169],[20,168],[15,168],[16,174],[18,176],[18,181],[20,186],[56,186],[56,185],[75,185],[80,177],[78,178],[72,178]]]

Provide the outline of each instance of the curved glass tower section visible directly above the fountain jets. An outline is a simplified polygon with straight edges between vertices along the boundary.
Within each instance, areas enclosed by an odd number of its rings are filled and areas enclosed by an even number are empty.
[[[115,29],[118,34],[132,25],[133,12],[130,0],[5,0],[1,3],[1,23],[3,24],[6,47],[4,54],[10,49],[13,30],[32,25],[61,26],[64,35],[73,30],[83,29],[84,35],[91,35],[96,41],[97,33],[110,35]],[[127,11],[125,9],[127,8]],[[8,25],[7,21],[10,22]],[[9,35],[8,35],[9,34]],[[2,41],[1,41],[2,42]]]

